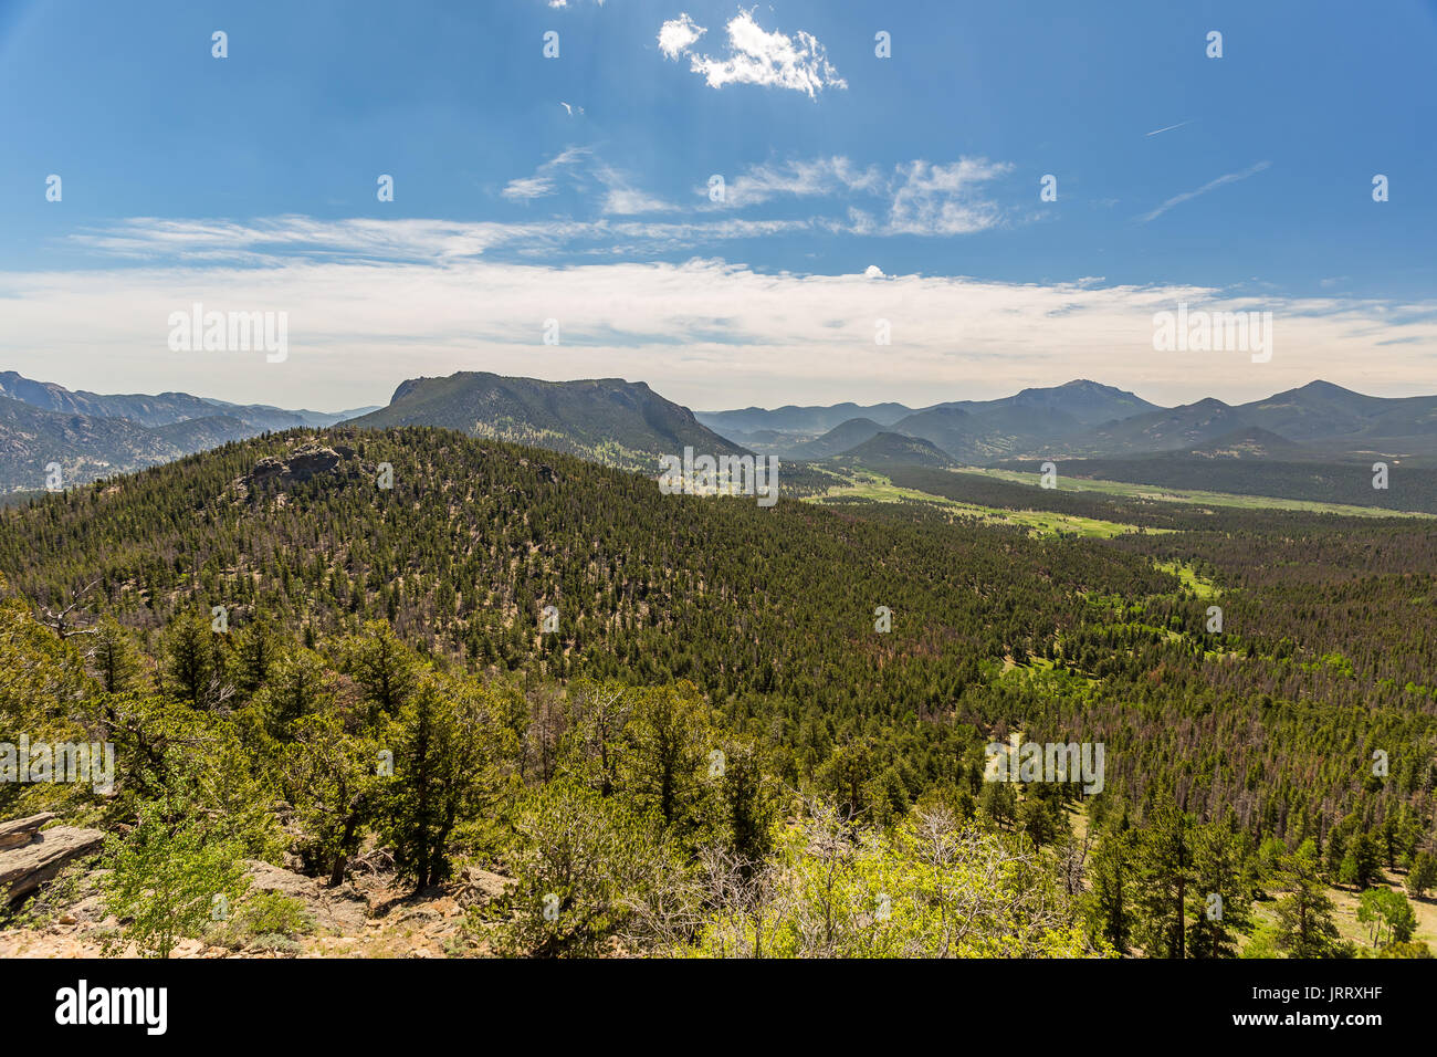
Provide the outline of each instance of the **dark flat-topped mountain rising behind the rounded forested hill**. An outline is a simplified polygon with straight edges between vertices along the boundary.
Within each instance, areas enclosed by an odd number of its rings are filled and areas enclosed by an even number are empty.
[[[654,473],[658,456],[681,454],[685,446],[713,456],[747,453],[701,426],[687,407],[621,378],[539,381],[481,371],[412,378],[394,391],[388,407],[349,424],[441,426]]]

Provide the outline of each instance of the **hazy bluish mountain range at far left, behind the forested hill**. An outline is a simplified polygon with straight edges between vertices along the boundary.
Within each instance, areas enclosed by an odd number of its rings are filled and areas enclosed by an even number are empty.
[[[65,486],[129,473],[296,426],[332,426],[352,411],[287,411],[188,393],[102,395],[0,372],[0,492],[46,488],[50,463]]]

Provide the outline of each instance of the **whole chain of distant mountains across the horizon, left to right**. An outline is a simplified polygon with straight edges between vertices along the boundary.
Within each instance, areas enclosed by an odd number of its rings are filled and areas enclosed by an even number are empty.
[[[1211,470],[1196,467],[1214,463],[1351,465],[1381,457],[1437,467],[1437,397],[1368,397],[1325,381],[1237,406],[1207,398],[1158,407],[1079,380],[924,408],[848,403],[694,414],[641,381],[553,383],[460,371],[411,378],[385,407],[322,413],[188,393],[70,391],[6,371],[0,372],[0,490],[45,488],[50,463],[60,465],[65,485],[75,485],[269,430],[339,421],[362,429],[437,426],[644,473],[657,472],[658,456],[685,447],[874,469],[1108,460],[1129,479],[1174,483],[1213,480]],[[1134,467],[1144,460],[1161,465]]]

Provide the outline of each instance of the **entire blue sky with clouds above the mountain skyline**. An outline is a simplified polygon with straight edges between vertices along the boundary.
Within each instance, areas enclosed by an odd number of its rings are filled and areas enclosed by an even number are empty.
[[[315,407],[453,370],[701,408],[1431,393],[1434,55],[1415,1],[11,0],[0,365]],[[292,354],[171,352],[197,299],[286,311]],[[1273,362],[1154,354],[1178,299],[1273,311]]]

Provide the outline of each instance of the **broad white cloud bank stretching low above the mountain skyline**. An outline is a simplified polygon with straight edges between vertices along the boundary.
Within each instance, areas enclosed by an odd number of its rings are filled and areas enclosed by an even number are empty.
[[[790,221],[721,221],[729,237]],[[805,221],[792,221],[803,224]],[[407,377],[493,370],[546,378],[644,380],[690,407],[999,395],[1073,377],[1150,400],[1250,400],[1328,378],[1410,394],[1437,354],[1437,299],[1237,296],[1193,286],[1003,283],[961,276],[766,273],[687,263],[513,263],[572,237],[553,224],[437,220],[131,221],[114,237],[158,265],[0,273],[0,362],[98,391],[188,390],[227,400],[336,408],[388,398]],[[604,252],[680,239],[684,224],[586,226]],[[706,234],[716,236],[717,232]],[[236,263],[214,266],[205,255]],[[376,263],[371,255],[402,255]],[[253,266],[246,255],[263,257]],[[201,262],[195,266],[193,262]],[[290,355],[175,354],[167,318],[193,302],[289,312]],[[1272,362],[1244,354],[1158,355],[1152,314],[1180,301],[1272,311]],[[542,347],[558,318],[563,344]],[[872,321],[892,322],[875,347]],[[543,355],[537,355],[542,349]]]

